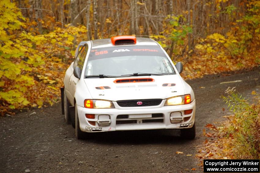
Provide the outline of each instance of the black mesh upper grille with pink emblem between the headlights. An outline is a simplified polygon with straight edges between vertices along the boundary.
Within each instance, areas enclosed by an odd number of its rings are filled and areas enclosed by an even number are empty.
[[[138,105],[137,102],[142,102]],[[117,101],[120,107],[141,107],[141,106],[158,106],[162,103],[162,99],[147,99],[147,100],[121,100]]]

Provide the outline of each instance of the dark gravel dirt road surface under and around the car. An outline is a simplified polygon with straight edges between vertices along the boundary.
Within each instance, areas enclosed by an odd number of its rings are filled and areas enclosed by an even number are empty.
[[[60,103],[1,117],[0,172],[202,172],[196,149],[205,141],[204,126],[227,113],[220,96],[228,86],[244,96],[259,92],[259,71],[187,81],[196,98],[197,136],[192,141],[178,137],[178,130],[109,132],[77,140],[64,122]],[[242,82],[220,84],[236,80]]]

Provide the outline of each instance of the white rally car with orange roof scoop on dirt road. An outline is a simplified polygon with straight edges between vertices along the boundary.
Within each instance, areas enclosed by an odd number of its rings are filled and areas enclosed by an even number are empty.
[[[114,36],[83,41],[61,88],[62,113],[76,137],[116,130],[181,129],[195,137],[195,97],[153,39]]]

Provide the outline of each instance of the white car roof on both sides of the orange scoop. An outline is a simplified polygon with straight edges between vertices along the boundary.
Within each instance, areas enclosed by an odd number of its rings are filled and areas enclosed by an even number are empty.
[[[92,42],[92,48],[101,48],[101,47],[114,47],[115,45],[113,45],[111,43],[111,39],[95,39],[95,40],[91,40]],[[153,39],[150,38],[144,38],[144,37],[136,37],[136,44],[134,44],[133,46],[138,46],[138,45],[157,45],[159,46],[159,44],[154,41]],[[117,45],[117,46],[121,46],[121,45]]]

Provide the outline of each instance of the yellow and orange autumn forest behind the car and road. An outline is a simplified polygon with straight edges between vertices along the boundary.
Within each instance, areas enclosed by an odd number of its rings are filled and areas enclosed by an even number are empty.
[[[58,101],[63,75],[82,40],[155,39],[184,79],[260,63],[256,0],[2,0],[1,114]]]

